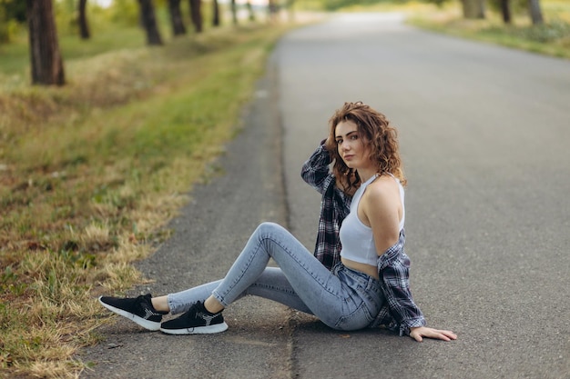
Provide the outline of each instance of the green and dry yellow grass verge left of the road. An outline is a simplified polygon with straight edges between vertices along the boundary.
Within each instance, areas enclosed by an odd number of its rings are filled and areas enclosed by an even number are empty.
[[[108,320],[94,297],[145,280],[129,263],[168,238],[188,189],[215,173],[288,27],[210,29],[163,47],[128,28],[92,44],[63,36],[61,88],[27,85],[25,42],[2,46],[0,376],[87,367],[77,349]]]

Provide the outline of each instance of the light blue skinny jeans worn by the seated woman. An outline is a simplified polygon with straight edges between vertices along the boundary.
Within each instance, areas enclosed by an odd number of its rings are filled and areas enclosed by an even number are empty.
[[[267,267],[270,258],[278,267]],[[337,330],[362,329],[380,312],[384,295],[378,280],[343,264],[331,271],[279,224],[263,223],[249,237],[222,280],[168,294],[172,314],[210,294],[224,306],[256,295],[314,314]]]

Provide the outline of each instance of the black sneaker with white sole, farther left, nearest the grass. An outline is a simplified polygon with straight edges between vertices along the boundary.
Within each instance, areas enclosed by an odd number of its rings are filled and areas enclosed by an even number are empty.
[[[168,312],[158,312],[152,306],[150,299],[150,294],[125,298],[101,296],[99,303],[109,311],[125,316],[148,330],[155,331],[160,329],[162,315],[168,314]]]

